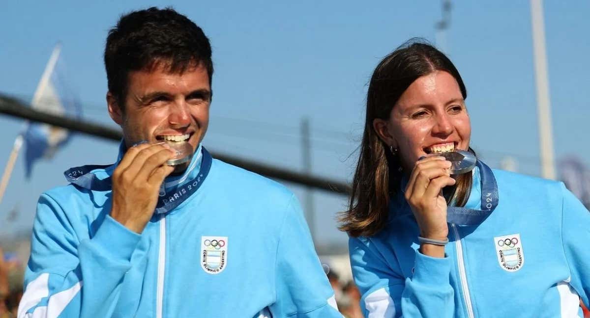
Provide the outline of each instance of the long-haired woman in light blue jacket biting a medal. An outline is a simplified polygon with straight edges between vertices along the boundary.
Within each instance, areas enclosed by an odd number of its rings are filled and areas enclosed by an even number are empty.
[[[368,317],[578,317],[590,294],[590,214],[562,183],[450,175],[469,148],[453,63],[409,42],[373,72],[341,229]],[[448,244],[447,244],[448,243]]]

